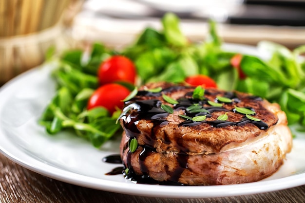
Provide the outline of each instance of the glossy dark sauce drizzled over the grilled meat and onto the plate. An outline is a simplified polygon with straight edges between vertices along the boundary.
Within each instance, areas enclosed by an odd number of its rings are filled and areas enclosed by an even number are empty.
[[[149,97],[159,97],[163,93],[166,92],[172,92],[172,91],[177,91],[180,89],[186,89],[188,87],[185,86],[173,86],[170,88],[163,89],[161,92],[149,92],[149,91],[139,91],[137,93],[137,96],[149,96]],[[217,95],[218,93],[213,93],[209,91],[205,91],[205,95]],[[186,97],[190,97],[192,95],[192,92],[186,93]],[[224,97],[230,98],[232,100],[232,103],[239,103],[241,100],[237,97],[235,92],[226,92],[224,94]],[[261,97],[256,97],[256,96],[248,96],[249,99],[252,100],[257,100],[261,101]],[[207,111],[203,112],[188,112],[187,108],[190,107],[193,104],[199,104],[200,106],[208,104],[207,99],[203,100],[195,100],[190,98],[180,98],[178,99],[179,104],[175,105],[173,107],[174,110],[185,110],[185,115],[193,117],[197,115],[207,115],[207,117],[211,117],[211,113],[215,111],[230,111],[226,108],[222,107],[205,107],[204,109]],[[215,102],[218,102],[217,99]],[[147,119],[151,120],[153,123],[153,128],[152,128],[152,133],[150,135],[147,135],[147,140],[152,140],[152,143],[154,142],[155,138],[155,130],[157,128],[160,128],[162,126],[168,125],[168,121],[166,120],[166,117],[169,115],[168,112],[162,110],[161,107],[161,101],[158,99],[150,99],[150,100],[132,100],[126,103],[125,108],[130,108],[131,110],[125,115],[121,117],[124,125],[124,129],[126,132],[126,135],[131,139],[134,137],[137,138],[139,135],[139,130],[136,127],[137,121],[141,119]],[[203,107],[202,107],[203,108]],[[231,110],[235,112],[234,110]],[[263,122],[263,121],[254,121],[246,116],[242,118],[241,121],[238,122],[231,122],[231,121],[222,121],[222,120],[214,120],[214,121],[192,121],[192,120],[186,120],[182,123],[179,124],[179,127],[191,127],[191,126],[197,126],[200,124],[209,124],[212,127],[215,128],[224,128],[227,126],[244,126],[247,123],[252,123],[259,129],[268,129],[268,125]],[[166,136],[165,136],[166,139]],[[165,142],[170,142],[169,140],[165,140]],[[169,181],[165,182],[159,182],[154,179],[152,179],[148,173],[149,173],[149,168],[145,165],[145,160],[148,156],[150,156],[152,153],[156,153],[155,149],[152,148],[152,143],[147,143],[147,145],[142,146],[143,150],[139,154],[139,164],[140,164],[140,169],[143,173],[143,175],[137,175],[133,171],[133,167],[131,166],[131,158],[132,158],[132,152],[129,151],[127,153],[127,168],[129,169],[128,173],[126,173],[125,166],[122,167],[116,167],[114,170],[110,171],[107,173],[107,175],[115,175],[115,174],[123,174],[126,179],[131,180],[135,183],[140,183],[140,184],[159,184],[159,185],[184,185],[180,184],[179,177],[181,173],[184,171],[185,168],[188,167],[188,157],[189,155],[184,154],[184,153],[178,153],[177,154],[177,161],[178,161],[178,167],[174,171],[169,171],[167,166],[165,166],[165,170],[168,175],[170,175]],[[127,146],[125,146],[127,148]],[[113,156],[108,156],[103,159],[104,162],[106,163],[114,163],[114,164],[122,164],[122,160],[119,155],[113,155]],[[124,164],[124,163],[123,163]]]

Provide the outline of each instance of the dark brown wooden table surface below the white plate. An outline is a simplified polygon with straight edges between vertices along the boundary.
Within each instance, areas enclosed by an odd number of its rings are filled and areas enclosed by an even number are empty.
[[[15,164],[0,154],[0,203],[304,203],[305,185],[262,194],[172,199],[124,195],[63,183]]]

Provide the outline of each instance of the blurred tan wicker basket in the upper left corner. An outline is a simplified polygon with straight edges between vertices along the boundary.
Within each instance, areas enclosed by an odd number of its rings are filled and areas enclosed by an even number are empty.
[[[0,0],[0,84],[67,49],[65,29],[81,0]]]

